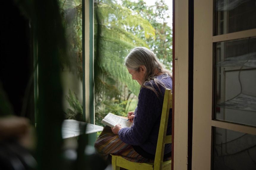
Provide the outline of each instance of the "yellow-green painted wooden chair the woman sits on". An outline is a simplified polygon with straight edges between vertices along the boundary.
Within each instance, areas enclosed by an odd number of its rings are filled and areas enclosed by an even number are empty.
[[[112,170],[120,170],[120,167],[128,170],[171,169],[172,161],[163,161],[165,144],[172,143],[172,135],[166,135],[170,108],[172,108],[172,90],[166,89],[154,163],[131,162],[121,156],[112,155]]]

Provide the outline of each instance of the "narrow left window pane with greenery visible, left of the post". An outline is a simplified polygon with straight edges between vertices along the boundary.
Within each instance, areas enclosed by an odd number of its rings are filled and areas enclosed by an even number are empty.
[[[63,111],[65,119],[82,121],[82,0],[59,0],[59,7],[67,41],[67,57],[60,58]]]

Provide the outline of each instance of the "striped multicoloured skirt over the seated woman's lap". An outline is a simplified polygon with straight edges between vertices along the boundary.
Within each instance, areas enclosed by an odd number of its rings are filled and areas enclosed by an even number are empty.
[[[119,155],[132,162],[154,162],[138,154],[132,145],[122,142],[118,135],[113,134],[109,126],[105,126],[99,137],[94,143],[95,151],[111,163],[111,155]]]

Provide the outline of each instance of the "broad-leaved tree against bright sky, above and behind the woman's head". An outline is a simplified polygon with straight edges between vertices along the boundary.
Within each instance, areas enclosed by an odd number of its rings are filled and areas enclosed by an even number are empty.
[[[123,0],[122,2],[125,7],[137,12],[150,22],[155,29],[155,36],[148,38],[138,28],[131,28],[127,31],[133,32],[145,40],[148,47],[154,51],[161,63],[165,65],[165,68],[172,70],[172,29],[166,22],[166,18],[170,17],[170,14],[167,13],[168,6],[163,0],[156,1],[153,6],[149,7],[146,6],[143,0],[139,2]]]

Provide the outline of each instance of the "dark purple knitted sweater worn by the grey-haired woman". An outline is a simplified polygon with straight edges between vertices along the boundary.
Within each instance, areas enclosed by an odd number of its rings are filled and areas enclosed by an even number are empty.
[[[171,77],[159,75],[156,78],[165,84],[167,88],[172,89]],[[133,125],[131,128],[122,128],[119,130],[118,135],[124,143],[134,145],[141,148],[143,151],[146,151],[146,153],[155,155],[165,88],[159,86],[161,89],[161,92],[159,92],[159,89],[154,81],[151,80],[150,82],[157,90],[158,97],[152,90],[141,88],[138,96],[138,105],[134,113],[135,117],[133,119]],[[147,85],[150,85],[150,82],[147,82]],[[172,132],[171,123],[172,114],[170,109],[167,135],[170,135]],[[165,145],[164,154],[169,153],[170,151],[171,144]],[[139,153],[139,151],[137,152]],[[139,154],[142,155],[141,153]]]

